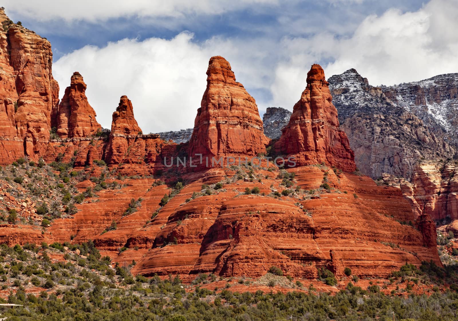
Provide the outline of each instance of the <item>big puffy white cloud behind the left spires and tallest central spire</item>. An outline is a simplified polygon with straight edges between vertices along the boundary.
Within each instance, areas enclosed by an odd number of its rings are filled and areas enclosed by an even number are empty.
[[[170,40],[123,39],[104,48],[85,46],[67,54],[53,64],[60,97],[72,73],[79,71],[87,84],[88,101],[102,126],[111,127],[119,98],[127,95],[137,122],[148,133],[194,126],[211,56],[228,59],[238,81],[263,84],[266,75],[260,64],[266,53],[246,51],[237,41],[219,37],[202,44],[193,43],[192,38],[192,33],[181,32]]]

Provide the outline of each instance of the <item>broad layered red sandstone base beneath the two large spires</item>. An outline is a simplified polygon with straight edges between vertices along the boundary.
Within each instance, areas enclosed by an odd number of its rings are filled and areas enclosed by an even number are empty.
[[[229,177],[234,174],[224,171]],[[227,182],[224,190],[188,202],[185,199],[200,191],[202,181],[186,186],[145,231],[131,236],[130,247],[153,246],[136,259],[132,273],[259,277],[277,266],[289,275],[316,278],[317,267],[331,268],[339,277],[344,267],[350,267],[361,277],[384,277],[406,261],[420,265],[432,259],[440,264],[434,223],[417,220],[419,229],[399,223],[415,218],[398,188],[378,187],[368,177],[344,173],[337,177],[328,170],[328,183],[347,193],[320,194],[321,169],[302,166],[290,171],[296,173],[298,185],[316,194],[307,192],[305,199],[302,194],[281,199],[240,195],[245,187],[259,186],[266,194],[268,186],[284,189],[277,173],[263,178],[264,185],[231,182],[218,174],[208,184],[222,180]],[[128,263],[128,258],[119,259]]]

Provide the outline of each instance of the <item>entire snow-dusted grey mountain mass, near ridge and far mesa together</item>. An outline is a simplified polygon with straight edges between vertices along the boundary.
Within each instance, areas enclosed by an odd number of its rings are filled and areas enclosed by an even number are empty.
[[[341,127],[364,174],[410,180],[418,160],[458,156],[457,74],[375,87],[350,69],[328,81]]]

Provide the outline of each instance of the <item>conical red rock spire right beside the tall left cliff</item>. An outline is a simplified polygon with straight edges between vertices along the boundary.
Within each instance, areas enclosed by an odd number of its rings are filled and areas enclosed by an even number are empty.
[[[53,111],[53,126],[57,128],[60,138],[87,137],[102,129],[95,120],[97,115],[87,102],[85,92],[86,84],[82,75],[74,72],[58,109]]]

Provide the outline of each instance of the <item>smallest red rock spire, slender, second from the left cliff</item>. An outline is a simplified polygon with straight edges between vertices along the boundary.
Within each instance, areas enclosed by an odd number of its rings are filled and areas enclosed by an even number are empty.
[[[119,164],[136,136],[141,134],[142,129],[138,127],[134,118],[132,102],[127,96],[121,96],[116,111],[113,112],[113,121],[111,122],[111,133],[105,160],[108,164]]]

